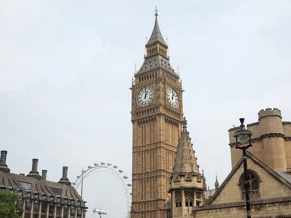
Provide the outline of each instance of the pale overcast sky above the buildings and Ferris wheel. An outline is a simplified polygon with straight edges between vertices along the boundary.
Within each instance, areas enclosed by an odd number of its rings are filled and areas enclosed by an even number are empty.
[[[0,149],[14,173],[74,182],[111,162],[131,178],[131,78],[159,25],[210,188],[231,170],[227,130],[276,107],[291,121],[290,0],[0,1]]]

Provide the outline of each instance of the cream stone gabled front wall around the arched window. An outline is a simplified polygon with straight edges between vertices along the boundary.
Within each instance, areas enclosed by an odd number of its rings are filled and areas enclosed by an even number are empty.
[[[249,151],[247,163],[248,171],[259,182],[256,190],[250,190],[252,218],[290,218],[291,176],[270,168]],[[193,217],[246,217],[243,180],[241,159],[210,201],[205,206],[193,208]]]

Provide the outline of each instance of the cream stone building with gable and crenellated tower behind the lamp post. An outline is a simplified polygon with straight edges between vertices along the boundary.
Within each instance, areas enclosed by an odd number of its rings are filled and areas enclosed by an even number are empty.
[[[253,218],[291,218],[291,175],[286,167],[290,124],[282,122],[278,109],[267,108],[259,112],[259,122],[247,125],[253,133],[253,147],[247,151]],[[238,129],[229,130],[232,171],[204,206],[193,208],[193,217],[246,217],[242,151],[235,150],[233,139]]]

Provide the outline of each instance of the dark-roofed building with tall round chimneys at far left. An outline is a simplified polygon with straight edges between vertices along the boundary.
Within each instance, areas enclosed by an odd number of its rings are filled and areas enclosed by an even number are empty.
[[[37,171],[38,159],[32,159],[32,170],[26,176],[10,172],[7,151],[1,151],[0,188],[22,196],[18,204],[22,218],[85,218],[85,202],[67,178],[67,167],[59,182],[47,181],[47,170]]]

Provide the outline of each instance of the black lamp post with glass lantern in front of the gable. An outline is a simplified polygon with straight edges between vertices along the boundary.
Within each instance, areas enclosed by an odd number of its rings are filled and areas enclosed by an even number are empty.
[[[250,205],[250,196],[249,196],[249,186],[247,180],[247,163],[246,163],[246,150],[249,147],[252,147],[251,144],[251,136],[252,132],[247,130],[243,124],[244,118],[240,118],[241,121],[241,128],[238,131],[235,131],[233,137],[236,138],[236,147],[235,149],[242,150],[242,159],[243,159],[243,172],[244,172],[244,190],[245,190],[245,200],[246,200],[246,213],[247,218],[251,218],[251,205]],[[247,146],[238,146],[238,141],[242,144],[245,144],[249,141],[249,145]]]

